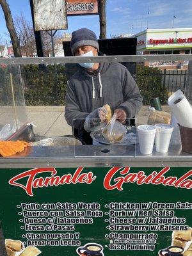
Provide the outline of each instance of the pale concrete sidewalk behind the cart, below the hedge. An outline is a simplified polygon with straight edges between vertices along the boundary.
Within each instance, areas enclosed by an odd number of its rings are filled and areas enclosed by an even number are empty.
[[[45,137],[63,136],[72,134],[72,128],[67,124],[64,112],[65,107],[45,106],[26,107],[29,122],[35,122],[35,134]],[[169,106],[163,106],[163,111],[170,113]],[[147,124],[148,106],[143,106],[136,115],[136,124]]]

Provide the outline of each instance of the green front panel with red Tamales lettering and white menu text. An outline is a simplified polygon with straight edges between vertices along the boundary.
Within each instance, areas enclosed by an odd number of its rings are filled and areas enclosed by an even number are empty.
[[[169,167],[1,169],[1,255],[191,256],[191,177]]]

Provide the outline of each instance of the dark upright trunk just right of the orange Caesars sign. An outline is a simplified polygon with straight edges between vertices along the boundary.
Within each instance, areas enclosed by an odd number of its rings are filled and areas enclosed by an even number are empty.
[[[106,39],[106,0],[99,0],[100,39]]]

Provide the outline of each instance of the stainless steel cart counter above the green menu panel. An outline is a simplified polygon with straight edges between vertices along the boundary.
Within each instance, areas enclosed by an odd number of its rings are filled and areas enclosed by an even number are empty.
[[[1,157],[1,168],[18,166],[191,166],[191,154],[182,151],[181,145],[170,145],[168,153],[153,150],[150,155],[141,154],[139,145],[77,145],[35,146],[13,157]]]

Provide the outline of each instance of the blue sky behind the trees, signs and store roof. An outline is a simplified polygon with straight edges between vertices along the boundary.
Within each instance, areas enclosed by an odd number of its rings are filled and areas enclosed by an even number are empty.
[[[13,20],[15,15],[22,12],[27,20],[31,21],[29,0],[7,0],[10,4]],[[191,0],[107,0],[107,36],[125,33],[140,32],[147,28],[172,28],[173,15],[174,28],[192,27],[192,1]],[[99,36],[99,15],[86,15],[68,17],[70,32],[79,28],[89,28]],[[7,38],[6,24],[0,6],[0,38]]]

